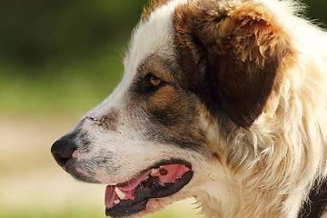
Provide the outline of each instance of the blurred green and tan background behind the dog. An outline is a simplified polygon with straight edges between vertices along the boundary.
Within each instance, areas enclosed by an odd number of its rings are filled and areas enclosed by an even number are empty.
[[[75,181],[50,147],[119,83],[146,2],[1,2],[0,217],[104,217],[105,185]],[[306,4],[323,27],[327,1]],[[196,206],[189,199],[149,217],[203,217]]]

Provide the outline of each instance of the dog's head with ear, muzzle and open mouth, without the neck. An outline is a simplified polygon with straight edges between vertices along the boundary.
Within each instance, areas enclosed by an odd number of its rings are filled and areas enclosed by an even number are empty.
[[[156,1],[134,31],[122,82],[52,154],[75,178],[108,185],[113,217],[201,198],[209,182],[223,193],[226,171],[254,155],[251,128],[274,113],[267,104],[290,54],[255,1]]]

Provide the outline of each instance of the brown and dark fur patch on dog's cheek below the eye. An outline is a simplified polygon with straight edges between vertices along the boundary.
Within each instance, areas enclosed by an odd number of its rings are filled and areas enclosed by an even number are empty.
[[[199,113],[196,101],[181,96],[165,108],[149,108],[150,121],[146,126],[146,140],[197,149],[205,141],[198,127]]]

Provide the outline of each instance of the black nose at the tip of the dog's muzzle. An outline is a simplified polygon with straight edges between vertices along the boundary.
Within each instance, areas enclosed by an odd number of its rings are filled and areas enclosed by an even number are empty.
[[[51,154],[53,154],[54,160],[63,168],[65,163],[74,153],[74,138],[74,134],[64,135],[64,137],[57,140],[51,147]]]

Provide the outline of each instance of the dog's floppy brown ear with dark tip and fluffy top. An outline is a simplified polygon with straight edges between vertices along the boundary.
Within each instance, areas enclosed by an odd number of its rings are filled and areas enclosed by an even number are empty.
[[[228,9],[218,1],[180,5],[175,11],[179,45],[204,60],[207,84],[235,124],[249,128],[262,114],[289,45],[260,4]]]

